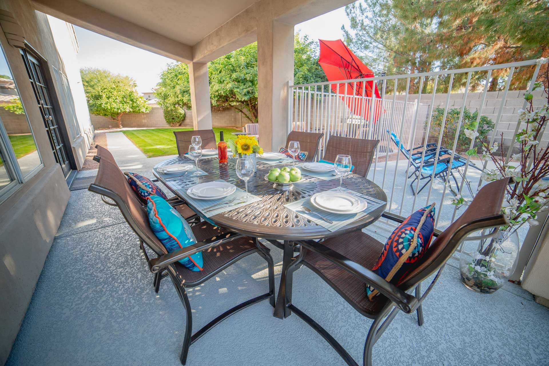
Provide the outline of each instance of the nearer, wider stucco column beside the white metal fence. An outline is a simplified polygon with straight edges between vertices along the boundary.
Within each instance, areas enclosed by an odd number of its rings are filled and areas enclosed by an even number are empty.
[[[259,143],[278,151],[288,136],[287,86],[294,81],[294,26],[277,21],[257,25]]]

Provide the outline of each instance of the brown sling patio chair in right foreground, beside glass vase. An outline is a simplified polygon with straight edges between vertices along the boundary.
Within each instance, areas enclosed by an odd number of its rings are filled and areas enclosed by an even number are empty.
[[[337,340],[292,302],[292,274],[301,267],[300,264],[304,264],[332,286],[357,312],[374,319],[363,351],[363,364],[371,366],[374,344],[399,311],[407,314],[417,312],[418,324],[420,326],[423,324],[422,302],[432,290],[447,260],[462,240],[470,233],[481,229],[496,228],[488,236],[494,235],[500,226],[508,224],[508,218],[501,213],[501,206],[507,185],[512,182],[512,178],[505,178],[485,185],[467,210],[444,232],[435,230],[436,239],[418,260],[416,268],[406,273],[398,283],[386,281],[369,269],[373,268],[378,261],[384,245],[361,230],[328,238],[322,243],[314,240],[296,241],[295,243],[301,247],[300,254],[286,270],[287,283],[281,284],[281,286],[287,286],[285,316],[289,316],[291,312],[297,314],[315,329],[348,365],[358,366]],[[397,223],[404,221],[404,218],[388,212],[385,212],[383,217]],[[480,237],[467,238],[467,240],[478,239]],[[432,283],[422,294],[421,282],[437,271]],[[372,285],[380,292],[373,300],[369,300],[366,295],[366,284]],[[414,289],[415,295],[408,294]],[[324,318],[329,318],[328,314],[322,315]],[[383,321],[384,318],[385,321]],[[398,351],[400,348],[398,345],[391,344],[388,345],[387,350]]]

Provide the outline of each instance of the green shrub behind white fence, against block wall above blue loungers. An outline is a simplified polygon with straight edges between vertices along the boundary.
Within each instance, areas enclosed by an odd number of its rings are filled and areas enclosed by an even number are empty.
[[[444,133],[442,134],[442,146],[447,149],[453,147],[453,141],[456,138],[457,123],[460,121],[461,108],[452,108],[446,114],[446,123],[444,125]],[[470,148],[471,139],[466,136],[464,130],[475,129],[477,124],[478,111],[470,112],[467,108],[463,110],[463,119],[460,126],[460,133],[457,138],[456,150],[467,151]],[[440,128],[442,125],[442,117],[444,117],[444,108],[437,106],[433,111],[433,119],[431,120],[430,134],[440,137]],[[425,122],[427,124],[427,121]],[[477,132],[479,138],[484,139],[488,132],[494,129],[494,122],[486,116],[480,116]]]

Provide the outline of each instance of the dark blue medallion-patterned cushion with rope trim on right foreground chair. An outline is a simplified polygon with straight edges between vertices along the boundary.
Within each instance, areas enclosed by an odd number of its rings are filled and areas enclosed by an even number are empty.
[[[399,285],[406,273],[416,267],[419,258],[431,244],[435,229],[434,202],[408,216],[391,234],[372,271],[394,285]],[[417,233],[417,240],[414,240]],[[378,291],[366,285],[368,299]]]

